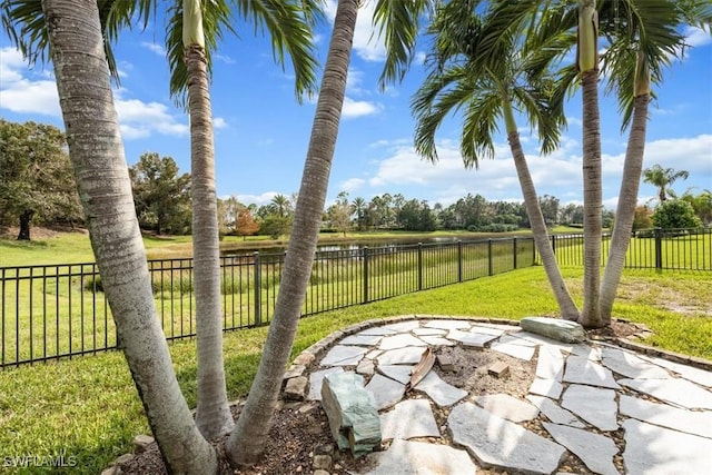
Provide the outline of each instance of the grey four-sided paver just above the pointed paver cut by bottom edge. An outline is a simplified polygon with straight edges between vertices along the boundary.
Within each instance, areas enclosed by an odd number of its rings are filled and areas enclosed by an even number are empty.
[[[601,431],[615,431],[619,425],[614,398],[613,389],[573,384],[564,392],[561,405]]]

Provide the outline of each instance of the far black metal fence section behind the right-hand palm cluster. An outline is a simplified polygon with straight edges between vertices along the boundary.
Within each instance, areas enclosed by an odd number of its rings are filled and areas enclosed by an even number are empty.
[[[583,266],[583,235],[553,235],[556,260],[563,267]],[[609,256],[611,234],[603,234],[602,265]],[[645,229],[634,231],[625,255],[629,269],[712,270],[712,228]]]

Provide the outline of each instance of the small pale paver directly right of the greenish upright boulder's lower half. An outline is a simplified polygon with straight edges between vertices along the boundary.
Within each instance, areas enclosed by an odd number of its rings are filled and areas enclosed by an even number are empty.
[[[427,399],[406,399],[380,415],[382,438],[439,437],[433,409]]]

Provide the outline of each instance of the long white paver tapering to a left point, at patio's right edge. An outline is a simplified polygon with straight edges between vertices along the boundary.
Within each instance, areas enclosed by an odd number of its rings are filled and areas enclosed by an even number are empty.
[[[688,409],[712,409],[712,393],[686,379],[621,379],[619,383]]]

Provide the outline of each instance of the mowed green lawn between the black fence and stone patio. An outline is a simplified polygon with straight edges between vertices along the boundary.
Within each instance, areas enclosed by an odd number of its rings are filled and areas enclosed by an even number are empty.
[[[2,260],[8,249],[4,243],[0,248]],[[31,246],[38,248],[39,255],[49,254],[51,245]],[[75,246],[82,246],[80,239]],[[78,258],[80,253],[67,249],[68,255]],[[563,271],[581,304],[583,270]],[[711,281],[709,271],[625,271],[614,315],[645,324],[654,333],[649,345],[712,359]],[[528,315],[555,316],[556,305],[544,270],[537,266],[305,318],[299,324],[293,355],[353,323],[396,315],[520,319]],[[265,336],[264,327],[225,334],[230,398],[246,396]],[[169,346],[180,387],[195,407],[195,340]],[[149,431],[118,352],[0,370],[0,456],[71,456],[76,466],[53,469],[71,474],[100,473],[118,455],[130,451],[136,434]],[[36,472],[37,468],[18,471]]]

